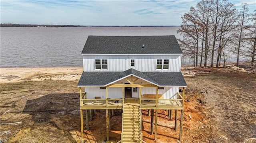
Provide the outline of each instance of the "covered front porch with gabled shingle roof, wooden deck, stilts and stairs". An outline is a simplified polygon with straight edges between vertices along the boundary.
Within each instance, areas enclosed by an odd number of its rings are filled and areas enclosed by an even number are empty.
[[[122,136],[121,134],[121,143],[126,143],[129,137],[132,140],[134,136],[138,137],[138,143],[143,142],[143,135],[141,133],[142,109],[155,110],[155,123],[157,123],[158,110],[175,110],[175,130],[178,122],[177,110],[181,110],[179,137],[181,140],[186,87],[186,82],[181,72],[140,72],[134,69],[124,72],[83,72],[78,82],[78,87],[80,90],[82,140],[84,131],[83,110],[86,110],[88,113],[89,110],[95,109],[106,110],[107,141],[109,140],[110,110],[122,110],[122,133],[127,134],[124,132],[126,129],[130,129],[127,126],[138,126],[140,134],[135,134],[133,130],[128,132],[128,134],[131,134],[130,136]],[[136,105],[130,109],[126,105],[131,101]],[[133,114],[130,115],[129,113]],[[130,116],[139,122],[134,122],[134,120],[128,121],[127,118],[124,118]],[[151,116],[153,117],[154,114]],[[153,122],[154,118],[151,118],[152,134]],[[89,129],[87,117],[86,129]],[[154,134],[156,139],[157,124],[155,124]]]

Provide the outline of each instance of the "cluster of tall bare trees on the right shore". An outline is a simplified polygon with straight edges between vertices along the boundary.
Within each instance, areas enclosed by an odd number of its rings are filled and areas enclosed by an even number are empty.
[[[225,67],[229,57],[256,67],[256,10],[248,13],[247,4],[236,10],[228,0],[201,0],[182,20],[178,41],[194,67]]]

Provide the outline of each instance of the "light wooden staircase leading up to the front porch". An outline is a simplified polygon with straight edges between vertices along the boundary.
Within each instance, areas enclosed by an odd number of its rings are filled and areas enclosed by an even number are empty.
[[[142,143],[139,99],[125,99],[122,119],[122,143]]]

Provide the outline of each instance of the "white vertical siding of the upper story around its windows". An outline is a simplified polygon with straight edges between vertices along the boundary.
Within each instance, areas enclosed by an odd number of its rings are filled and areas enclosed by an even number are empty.
[[[108,69],[95,69],[95,59],[107,59]],[[130,60],[134,59],[134,67]],[[169,59],[169,69],[156,69],[157,59]],[[140,72],[180,71],[181,55],[83,55],[84,71],[120,72],[130,68]]]

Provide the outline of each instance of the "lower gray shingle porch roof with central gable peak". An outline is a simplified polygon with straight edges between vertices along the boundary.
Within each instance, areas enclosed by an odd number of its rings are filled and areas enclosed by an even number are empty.
[[[123,72],[83,72],[78,82],[79,87],[107,86],[130,75],[162,87],[186,87],[181,72],[140,72],[128,69]]]

